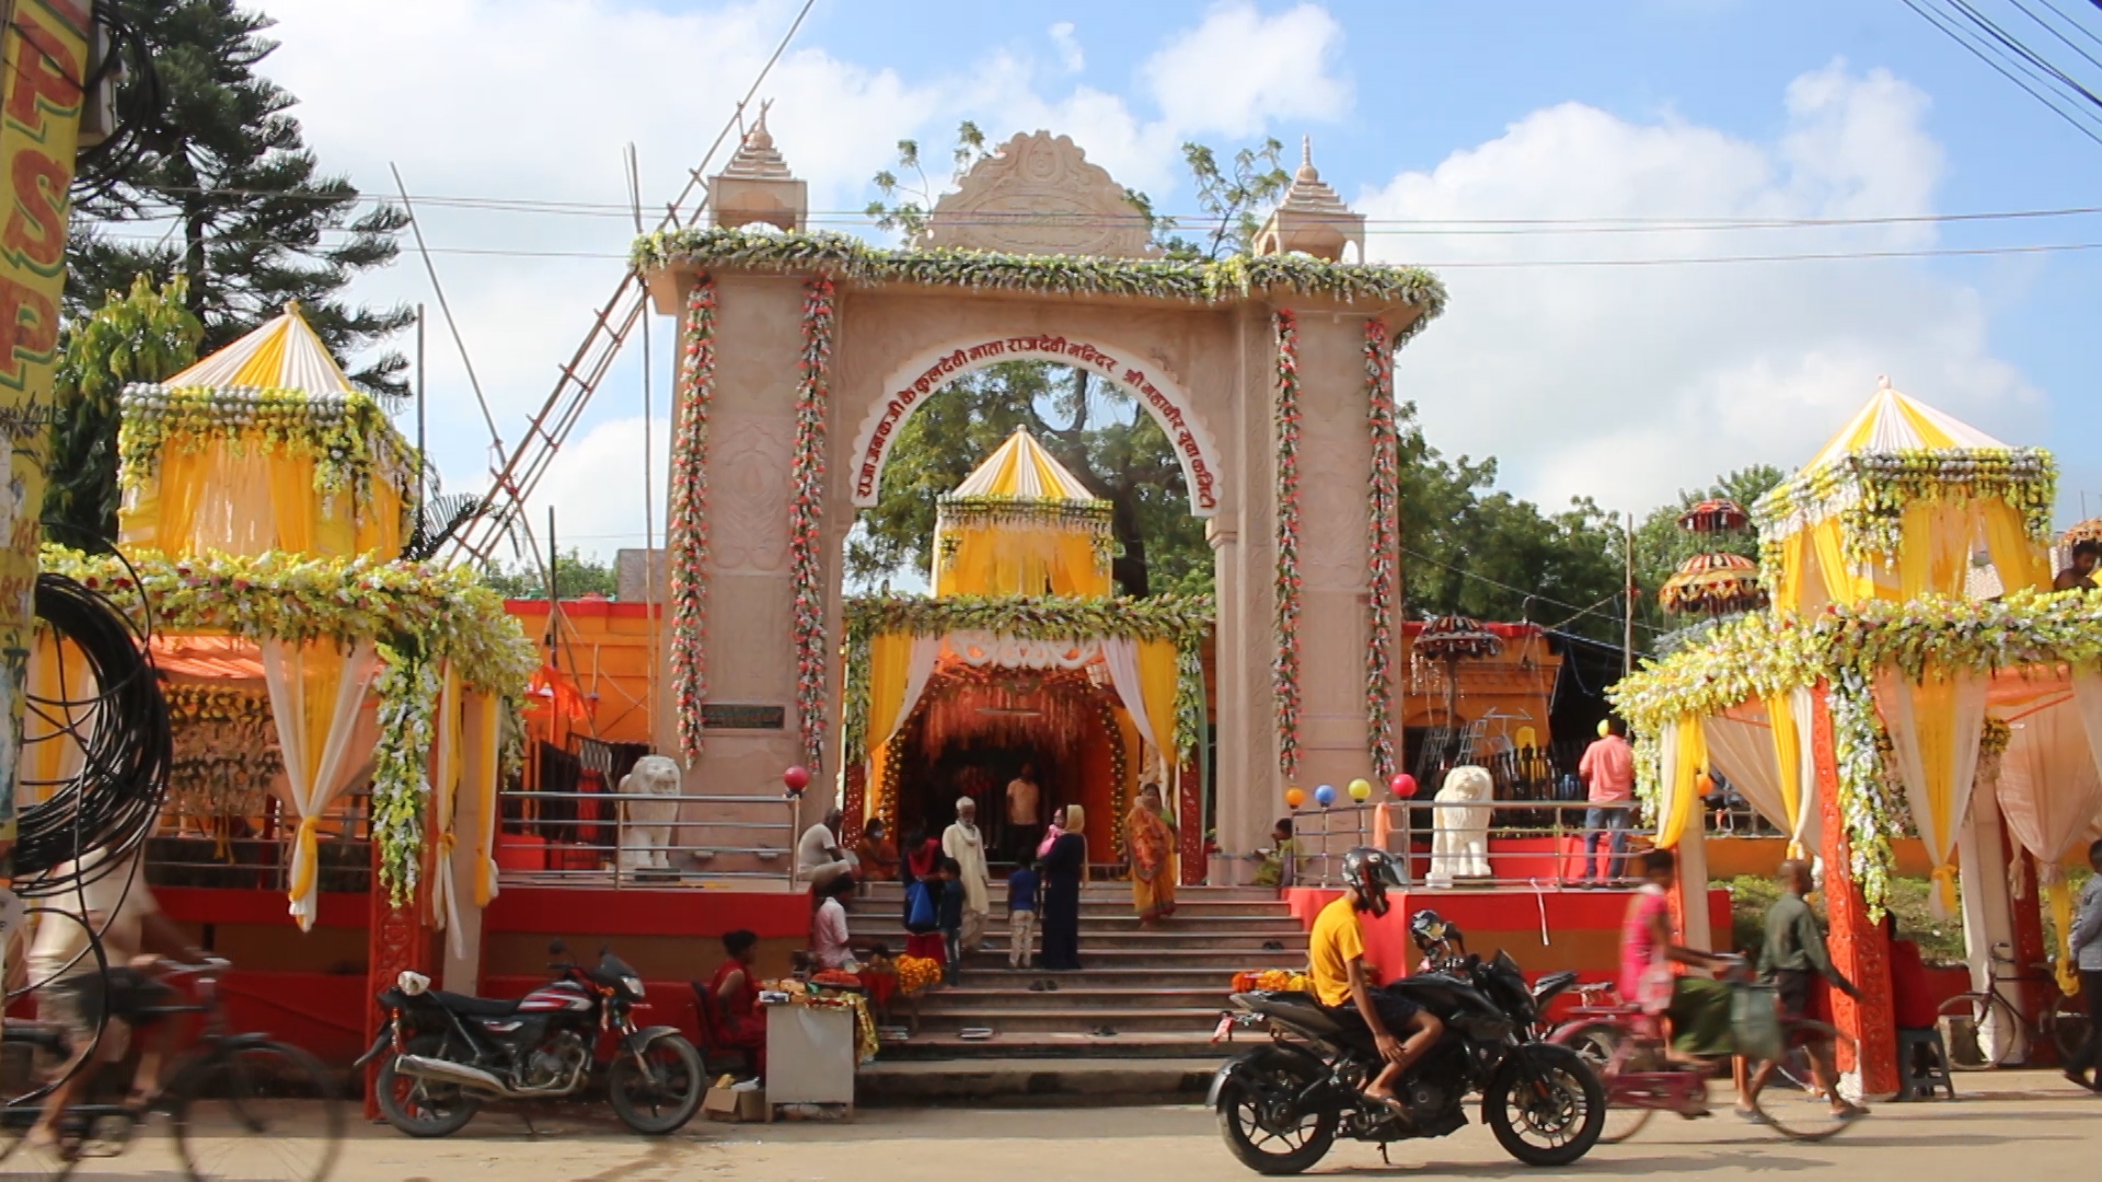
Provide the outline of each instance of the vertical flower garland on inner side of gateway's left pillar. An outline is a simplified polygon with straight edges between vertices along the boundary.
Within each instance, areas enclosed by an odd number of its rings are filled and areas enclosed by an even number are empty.
[[[788,572],[795,580],[795,711],[803,763],[824,761],[824,410],[832,366],[832,280],[803,284],[803,355],[797,362],[795,498],[788,507]]]

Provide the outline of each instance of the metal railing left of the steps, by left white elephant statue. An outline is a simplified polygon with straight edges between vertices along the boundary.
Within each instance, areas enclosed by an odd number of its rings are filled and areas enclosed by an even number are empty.
[[[782,797],[504,791],[502,816],[500,883],[795,881],[801,806]]]

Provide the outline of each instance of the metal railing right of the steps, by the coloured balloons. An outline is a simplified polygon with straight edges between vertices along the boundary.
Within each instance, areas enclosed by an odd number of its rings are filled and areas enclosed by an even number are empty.
[[[1410,885],[1442,881],[1440,871],[1471,869],[1440,858],[1436,852],[1436,818],[1440,810],[1490,810],[1486,837],[1488,875],[1450,875],[1455,885],[1568,885],[1585,879],[1585,862],[1593,858],[1595,879],[1627,877],[1627,860],[1637,841],[1648,848],[1652,831],[1637,829],[1637,812],[1629,808],[1627,829],[1587,824],[1589,803],[1585,801],[1434,801],[1413,799],[1383,806],[1349,803],[1324,810],[1305,810],[1293,816],[1293,839],[1299,848],[1301,885],[1337,885],[1343,854],[1354,845],[1373,845],[1373,810],[1387,812],[1387,852],[1396,854]],[[1598,835],[1595,856],[1589,854],[1591,837]],[[1612,837],[1619,835],[1623,852],[1621,873],[1612,875],[1616,860]],[[1513,848],[1511,841],[1530,839],[1532,845]],[[1497,848],[1503,841],[1503,848]],[[1444,864],[1440,864],[1444,862]]]

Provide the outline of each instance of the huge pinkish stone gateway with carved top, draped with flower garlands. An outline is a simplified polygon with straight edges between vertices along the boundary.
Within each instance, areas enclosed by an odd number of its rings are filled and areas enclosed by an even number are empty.
[[[1375,772],[1396,738],[1400,633],[1387,362],[1442,307],[1436,278],[1335,254],[1162,261],[1125,189],[1047,133],[977,164],[910,248],[803,231],[801,183],[771,141],[748,139],[723,179],[778,187],[788,212],[769,221],[788,231],[738,229],[725,206],[713,227],[637,244],[658,311],[683,318],[679,433],[702,408],[704,454],[675,461],[673,517],[685,496],[708,519],[671,566],[675,610],[704,618],[668,629],[679,692],[658,715],[666,751],[702,738],[681,724],[723,719],[689,793],[778,797],[782,768],[822,757],[811,736],[837,753],[853,509],[923,400],[1017,358],[1133,389],[1175,442],[1217,572],[1219,845],[1257,848],[1289,782]],[[1307,227],[1354,217],[1305,164],[1259,242],[1322,242]]]

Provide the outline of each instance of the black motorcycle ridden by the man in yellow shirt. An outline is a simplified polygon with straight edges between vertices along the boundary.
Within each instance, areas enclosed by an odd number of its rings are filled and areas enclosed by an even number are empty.
[[[1425,917],[1431,923],[1425,923]],[[1270,1045],[1246,1052],[1211,1081],[1207,1104],[1242,1165],[1257,1174],[1301,1174],[1335,1138],[1387,1142],[1442,1138],[1467,1125],[1469,1092],[1482,1121],[1526,1165],[1568,1165],[1598,1144],[1606,1089],[1574,1052],[1539,1041],[1539,1014],[1574,974],[1537,989],[1507,953],[1446,955],[1459,932],[1434,913],[1410,925],[1436,965],[1389,984],[1444,1020],[1444,1035],[1402,1077],[1408,1115],[1364,1098],[1381,1058],[1362,1022],[1339,1022],[1310,993],[1236,993],[1236,1028],[1265,1028]]]

